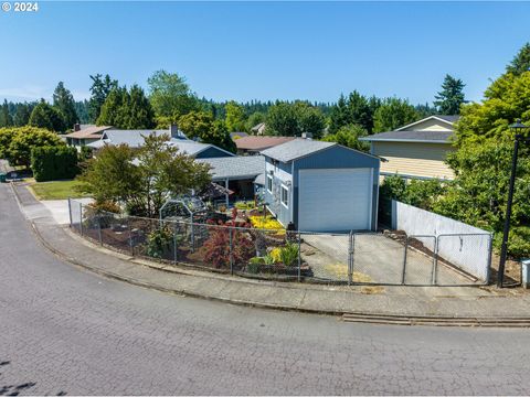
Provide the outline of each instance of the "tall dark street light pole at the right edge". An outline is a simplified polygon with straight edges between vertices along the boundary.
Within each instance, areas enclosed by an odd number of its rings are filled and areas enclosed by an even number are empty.
[[[499,271],[497,277],[497,287],[502,288],[505,281],[505,267],[506,267],[506,257],[508,254],[508,237],[510,235],[510,218],[511,218],[511,205],[513,203],[513,190],[516,185],[516,174],[517,174],[517,157],[519,154],[519,142],[523,139],[523,136],[519,133],[528,127],[524,126],[520,119],[517,119],[516,124],[510,126],[510,129],[516,131],[516,141],[513,143],[513,155],[511,158],[511,174],[510,174],[510,187],[508,190],[508,203],[506,205],[506,216],[505,216],[505,229],[502,234],[502,245],[500,247],[500,260],[499,260]]]

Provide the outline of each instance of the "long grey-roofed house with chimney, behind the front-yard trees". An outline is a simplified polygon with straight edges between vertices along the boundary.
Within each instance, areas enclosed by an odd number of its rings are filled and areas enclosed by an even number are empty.
[[[177,147],[179,151],[187,153],[195,159],[232,157],[233,153],[218,148],[211,143],[201,143],[190,140],[180,131],[177,126],[171,126],[169,130],[118,130],[108,129],[104,131],[98,141],[92,142],[88,147],[100,149],[105,144],[123,144],[126,143],[131,148],[140,148],[144,144],[144,137],[150,133],[171,136],[170,144]]]

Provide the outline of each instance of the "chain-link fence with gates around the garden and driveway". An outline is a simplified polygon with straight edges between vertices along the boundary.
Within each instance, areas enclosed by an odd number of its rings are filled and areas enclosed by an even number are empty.
[[[258,229],[96,211],[70,201],[71,227],[124,254],[252,278],[348,285],[486,283],[491,235],[406,236]]]

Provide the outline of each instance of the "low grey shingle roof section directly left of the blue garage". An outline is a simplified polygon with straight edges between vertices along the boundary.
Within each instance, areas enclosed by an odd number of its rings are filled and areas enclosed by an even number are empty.
[[[234,155],[198,159],[195,161],[210,164],[213,180],[255,179],[265,172],[265,158],[263,155]]]

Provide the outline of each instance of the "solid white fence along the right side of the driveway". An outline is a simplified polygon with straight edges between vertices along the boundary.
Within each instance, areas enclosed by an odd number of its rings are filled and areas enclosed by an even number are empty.
[[[410,236],[436,236],[436,242],[425,246],[437,251],[438,258],[480,280],[488,280],[492,240],[489,232],[395,200],[391,207],[392,228]]]

